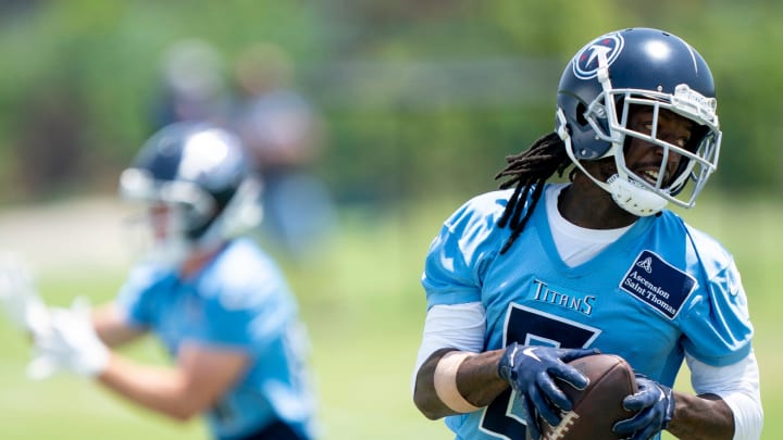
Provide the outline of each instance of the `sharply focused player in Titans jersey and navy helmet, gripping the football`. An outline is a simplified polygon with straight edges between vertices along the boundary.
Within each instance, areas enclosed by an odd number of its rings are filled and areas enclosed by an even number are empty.
[[[600,351],[637,373],[618,438],[758,439],[739,273],[666,209],[693,206],[718,163],[707,63],[672,34],[612,32],[574,55],[557,97],[554,133],[430,247],[417,406],[458,439],[538,439],[572,408],[561,387],[586,386],[568,363]],[[695,394],[671,389],[683,361]]]

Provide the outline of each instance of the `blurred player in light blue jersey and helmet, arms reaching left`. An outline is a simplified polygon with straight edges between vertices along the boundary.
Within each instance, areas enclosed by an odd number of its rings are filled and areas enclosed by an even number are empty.
[[[202,123],[152,136],[122,173],[151,246],[115,301],[75,301],[34,331],[30,375],[66,370],[175,419],[204,414],[215,439],[312,439],[308,337],[275,263],[243,231],[261,188],[238,139]],[[175,360],[142,365],[113,348],[154,332]]]

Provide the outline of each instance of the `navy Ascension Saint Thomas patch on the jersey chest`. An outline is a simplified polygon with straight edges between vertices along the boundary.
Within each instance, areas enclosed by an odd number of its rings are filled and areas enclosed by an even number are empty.
[[[620,282],[620,288],[673,319],[696,280],[650,251],[642,251]]]

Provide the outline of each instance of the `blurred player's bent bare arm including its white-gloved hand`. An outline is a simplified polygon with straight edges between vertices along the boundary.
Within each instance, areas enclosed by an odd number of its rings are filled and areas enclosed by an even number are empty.
[[[94,378],[148,410],[187,420],[215,405],[249,363],[243,351],[195,342],[183,343],[173,366],[140,364],[109,348],[141,334],[113,304],[90,311],[75,301],[70,310],[53,310],[51,326],[35,335],[28,373],[39,379],[58,372]]]

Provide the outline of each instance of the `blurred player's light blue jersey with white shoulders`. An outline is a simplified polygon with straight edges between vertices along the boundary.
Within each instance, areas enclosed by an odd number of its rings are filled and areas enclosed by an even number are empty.
[[[307,335],[282,274],[254,242],[231,242],[192,280],[137,267],[119,302],[132,324],[154,331],[172,356],[184,342],[235,348],[252,356],[247,374],[207,414],[215,438],[247,436],[276,419],[311,437]]]

